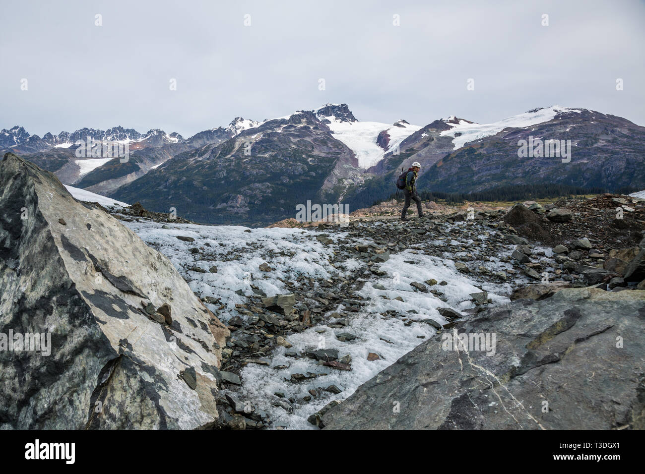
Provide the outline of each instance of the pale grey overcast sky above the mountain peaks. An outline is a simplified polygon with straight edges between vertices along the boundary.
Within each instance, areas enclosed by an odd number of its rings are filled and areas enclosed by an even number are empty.
[[[122,125],[189,137],[328,102],[384,123],[559,104],[645,125],[642,1],[46,0],[2,12],[0,128],[41,136]]]

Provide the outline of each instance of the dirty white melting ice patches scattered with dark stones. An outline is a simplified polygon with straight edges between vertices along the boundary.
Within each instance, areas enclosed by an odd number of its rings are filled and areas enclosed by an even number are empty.
[[[228,321],[237,315],[236,303],[248,302],[246,297],[237,295],[236,290],[243,290],[244,295],[252,295],[251,284],[259,287],[267,295],[291,293],[293,290],[284,284],[284,281],[295,281],[304,275],[318,282],[332,277],[347,275],[357,270],[363,264],[353,257],[344,261],[330,264],[333,252],[339,252],[337,240],[346,237],[344,233],[332,233],[334,243],[324,246],[315,239],[316,232],[301,229],[286,228],[257,228],[250,229],[241,226],[199,226],[193,224],[168,224],[170,228],[163,229],[156,222],[123,222],[145,242],[157,248],[166,255],[175,268],[188,281],[190,288],[203,297],[221,297],[226,310],[220,311],[218,317]],[[375,224],[379,225],[379,224]],[[193,237],[195,242],[184,242],[176,238],[177,235]],[[370,243],[370,239],[352,239],[352,244]],[[362,306],[358,313],[350,313],[347,317],[348,326],[342,329],[332,329],[326,326],[329,321],[312,326],[302,333],[293,333],[285,336],[293,344],[293,348],[286,350],[278,347],[270,355],[269,366],[248,364],[241,373],[243,386],[237,393],[241,400],[251,400],[256,410],[266,411],[272,419],[272,428],[286,426],[288,428],[314,428],[307,422],[307,417],[323,408],[331,400],[342,400],[349,397],[359,385],[371,379],[379,371],[393,364],[399,357],[427,341],[436,331],[432,326],[423,322],[413,322],[406,326],[399,317],[384,317],[381,313],[387,310],[397,311],[397,315],[404,315],[409,319],[433,319],[441,324],[446,320],[439,315],[437,308],[450,306],[455,310],[463,311],[472,308],[470,293],[481,290],[488,291],[489,297],[495,303],[508,302],[504,295],[510,293],[508,283],[481,283],[470,279],[468,275],[457,272],[454,262],[448,252],[439,249],[444,242],[456,239],[464,245],[477,246],[477,242],[463,237],[448,237],[430,241],[439,248],[435,255],[426,255],[424,246],[417,245],[404,252],[393,254],[390,259],[379,265],[387,272],[384,277],[366,277],[363,288],[358,292],[364,298],[370,298],[368,304]],[[477,237],[484,241],[485,235]],[[199,254],[190,252],[190,248],[204,247],[205,253],[212,253],[208,260],[201,260]],[[508,246],[508,254],[513,246]],[[476,252],[479,253],[479,252]],[[478,255],[475,254],[475,257]],[[414,261],[408,263],[406,261]],[[260,272],[258,266],[268,262],[275,268],[273,272]],[[481,261],[472,262],[473,265],[483,265],[490,272],[499,272],[510,268],[510,264],[501,262],[495,257],[481,255]],[[211,266],[217,266],[217,273],[210,273]],[[206,270],[199,273],[188,270],[188,267],[197,266]],[[352,279],[358,278],[354,273]],[[435,286],[444,291],[448,302],[432,295],[413,291],[410,282],[423,282],[435,279],[438,282],[446,281],[446,286]],[[375,284],[381,284],[386,290],[377,290]],[[318,290],[318,288],[315,288]],[[314,290],[314,291],[315,291]],[[333,288],[320,288],[322,291],[334,291]],[[297,291],[297,289],[295,290]],[[311,290],[308,290],[311,291]],[[384,299],[387,296],[389,299]],[[394,298],[401,296],[403,301]],[[348,295],[351,299],[352,296]],[[208,304],[215,313],[215,306]],[[339,306],[336,310],[342,310]],[[408,313],[414,310],[417,313]],[[330,311],[332,312],[332,311]],[[244,318],[244,317],[243,317]],[[356,336],[354,341],[338,341],[336,334],[348,332]],[[323,339],[324,338],[324,339]],[[337,349],[339,357],[352,356],[352,370],[341,371],[330,367],[317,365],[313,359],[302,357],[294,359],[286,357],[285,351],[312,350],[319,347],[324,341],[324,348]],[[368,353],[377,353],[381,359],[367,360]],[[275,370],[275,366],[286,365],[287,368]],[[326,373],[315,379],[306,379],[299,383],[289,380],[293,373]],[[285,380],[286,379],[286,380]],[[335,384],[342,391],[335,395],[324,392],[323,397],[304,402],[304,396],[309,395],[312,388]],[[274,392],[283,392],[286,399],[293,397],[297,400],[293,404],[293,412],[288,413],[281,407],[272,406],[272,400],[277,400]]]

